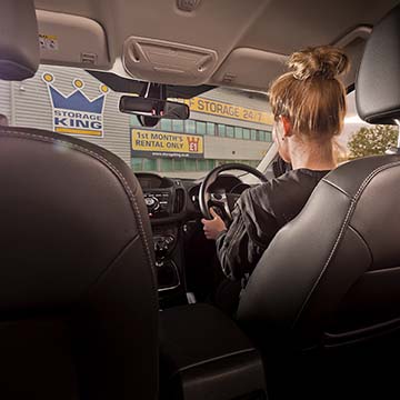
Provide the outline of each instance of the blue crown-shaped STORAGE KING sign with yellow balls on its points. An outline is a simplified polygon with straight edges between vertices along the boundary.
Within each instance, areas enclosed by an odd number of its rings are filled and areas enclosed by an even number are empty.
[[[48,87],[56,132],[103,137],[103,110],[109,91],[106,84],[100,84],[100,94],[90,100],[83,92],[84,83],[81,79],[73,79],[74,90],[68,96],[54,87],[52,73],[44,72],[42,80]]]

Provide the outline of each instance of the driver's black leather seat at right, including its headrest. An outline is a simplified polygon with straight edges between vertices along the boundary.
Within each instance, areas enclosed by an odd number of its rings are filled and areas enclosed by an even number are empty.
[[[359,69],[358,111],[370,123],[399,123],[399,27],[397,7]],[[398,394],[399,203],[399,153],[346,163],[264,252],[238,319],[263,351],[272,398]]]

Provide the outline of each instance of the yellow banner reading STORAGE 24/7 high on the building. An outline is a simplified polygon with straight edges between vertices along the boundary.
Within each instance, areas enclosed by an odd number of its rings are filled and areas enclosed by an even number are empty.
[[[244,107],[233,106],[199,97],[184,100],[184,102],[190,107],[191,111],[233,118],[256,123],[264,123],[270,126],[273,124],[273,117],[270,112],[252,110]]]

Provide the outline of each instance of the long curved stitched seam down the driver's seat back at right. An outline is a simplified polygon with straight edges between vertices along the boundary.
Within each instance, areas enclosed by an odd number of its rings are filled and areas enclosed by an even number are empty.
[[[337,238],[337,240],[336,240],[334,243],[333,243],[333,247],[332,247],[332,249],[331,249],[331,251],[330,251],[330,253],[329,253],[329,256],[328,256],[328,259],[327,259],[327,261],[326,261],[326,263],[324,263],[324,266],[323,266],[320,274],[317,277],[317,279],[316,279],[316,281],[314,281],[314,284],[312,286],[312,288],[310,289],[309,293],[307,294],[303,303],[301,304],[301,307],[300,307],[300,309],[299,309],[299,312],[298,312],[298,314],[296,316],[294,321],[293,321],[293,323],[292,323],[292,326],[291,326],[291,329],[294,329],[294,326],[298,323],[298,321],[299,321],[299,319],[300,319],[300,317],[301,317],[301,313],[303,312],[303,310],[306,309],[306,306],[308,304],[308,302],[309,302],[310,299],[311,299],[312,293],[316,291],[316,289],[317,289],[317,287],[318,287],[318,284],[319,284],[320,280],[322,279],[322,276],[324,274],[326,270],[328,269],[328,266],[329,266],[330,261],[331,261],[332,258],[333,258],[333,254],[334,254],[334,252],[336,252],[336,250],[337,250],[337,247],[338,247],[340,240],[342,239],[344,229],[347,228],[347,223],[348,223],[349,220],[350,220],[350,217],[351,217],[351,214],[352,214],[352,211],[356,209],[356,206],[357,206],[357,203],[358,203],[358,200],[359,200],[362,191],[366,189],[367,184],[368,184],[378,173],[384,171],[386,169],[389,169],[389,168],[392,168],[392,167],[396,167],[396,166],[399,166],[399,164],[400,164],[400,161],[396,161],[396,162],[391,162],[391,163],[389,163],[389,164],[381,166],[381,167],[377,168],[376,170],[371,171],[371,172],[368,174],[368,177],[363,180],[363,182],[361,183],[361,186],[360,186],[359,190],[357,191],[357,193],[354,194],[354,197],[350,200],[350,201],[351,201],[351,204],[350,204],[349,210],[348,210],[348,212],[347,212],[347,214],[346,214],[346,218],[344,218],[344,221],[343,221],[343,223],[342,223],[342,226],[341,226],[341,229],[340,229],[340,231],[339,231],[338,238]]]

